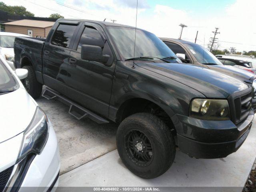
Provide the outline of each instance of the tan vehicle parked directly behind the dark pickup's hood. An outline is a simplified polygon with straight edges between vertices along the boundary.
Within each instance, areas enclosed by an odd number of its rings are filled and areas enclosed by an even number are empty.
[[[256,79],[255,74],[251,72],[244,71],[238,67],[223,65],[210,51],[198,44],[172,38],[160,39],[185,63],[208,68],[238,78],[250,87],[252,87]],[[256,112],[256,97],[252,98],[252,108]]]

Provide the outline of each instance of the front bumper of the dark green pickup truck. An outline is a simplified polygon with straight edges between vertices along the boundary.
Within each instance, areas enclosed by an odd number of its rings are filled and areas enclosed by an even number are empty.
[[[236,152],[250,132],[254,111],[235,125],[232,121],[199,120],[178,115],[178,147],[195,158],[224,158]]]

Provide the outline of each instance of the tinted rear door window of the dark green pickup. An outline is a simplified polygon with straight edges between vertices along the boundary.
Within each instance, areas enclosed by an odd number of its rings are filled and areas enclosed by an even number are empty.
[[[76,27],[75,25],[60,24],[52,36],[51,44],[68,48]]]

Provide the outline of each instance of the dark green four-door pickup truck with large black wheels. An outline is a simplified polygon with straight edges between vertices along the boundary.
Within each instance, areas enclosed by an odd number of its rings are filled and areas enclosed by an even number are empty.
[[[118,123],[120,158],[142,178],[166,172],[176,146],[191,157],[223,158],[250,132],[252,87],[182,64],[145,30],[60,19],[46,41],[16,38],[14,52],[16,67],[29,71],[24,84],[34,98],[46,85],[42,95],[69,104],[76,118]]]

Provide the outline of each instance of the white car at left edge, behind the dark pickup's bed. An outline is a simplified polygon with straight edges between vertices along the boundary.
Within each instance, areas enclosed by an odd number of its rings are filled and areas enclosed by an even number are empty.
[[[29,37],[28,35],[10,32],[0,32],[0,55],[5,58],[12,70],[15,70],[14,66],[14,39],[15,37]]]

